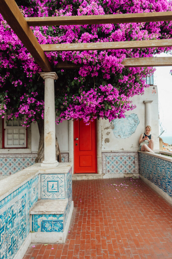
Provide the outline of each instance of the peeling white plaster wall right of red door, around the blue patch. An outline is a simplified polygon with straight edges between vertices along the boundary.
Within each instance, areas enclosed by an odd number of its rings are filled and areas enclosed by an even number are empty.
[[[153,100],[151,105],[151,134],[154,136],[155,145],[154,150],[159,150],[159,115],[158,115],[158,91],[156,95],[152,95],[152,86],[145,89],[144,95],[134,96],[132,98],[133,104],[136,108],[132,111],[126,112],[126,115],[135,113],[138,116],[139,124],[135,132],[128,138],[116,138],[113,133],[113,125],[108,120],[102,120],[102,152],[107,151],[122,151],[122,150],[138,150],[139,137],[145,130],[145,104],[144,100]],[[120,120],[120,119],[117,119]]]

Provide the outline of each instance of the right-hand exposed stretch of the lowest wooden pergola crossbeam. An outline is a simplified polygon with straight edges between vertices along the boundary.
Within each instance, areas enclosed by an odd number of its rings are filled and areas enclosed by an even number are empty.
[[[125,67],[167,67],[172,66],[171,57],[130,57],[121,62]]]

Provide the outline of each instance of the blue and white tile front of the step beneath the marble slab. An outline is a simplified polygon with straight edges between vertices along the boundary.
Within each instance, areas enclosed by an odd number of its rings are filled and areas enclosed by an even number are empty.
[[[32,231],[63,232],[63,214],[32,215]]]

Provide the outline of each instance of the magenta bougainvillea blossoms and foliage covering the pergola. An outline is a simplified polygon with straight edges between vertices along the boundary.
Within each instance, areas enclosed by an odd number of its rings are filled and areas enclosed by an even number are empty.
[[[16,0],[24,17],[103,15],[171,11],[168,0]],[[40,44],[168,39],[172,22],[31,27]],[[40,67],[0,15],[0,117],[27,115],[24,125],[43,118],[44,82]],[[105,43],[106,44],[106,43]],[[55,81],[55,108],[65,119],[106,118],[110,121],[134,109],[130,97],[144,93],[144,78],[154,69],[124,68],[126,57],[151,57],[170,48],[67,51],[46,53],[59,79]],[[57,69],[59,61],[78,69]]]

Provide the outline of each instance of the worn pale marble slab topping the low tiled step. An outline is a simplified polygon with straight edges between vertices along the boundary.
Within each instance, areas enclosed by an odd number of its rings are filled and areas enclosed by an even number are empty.
[[[31,208],[30,214],[64,214],[68,199],[38,200]]]

